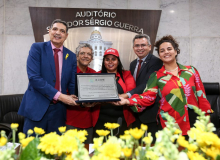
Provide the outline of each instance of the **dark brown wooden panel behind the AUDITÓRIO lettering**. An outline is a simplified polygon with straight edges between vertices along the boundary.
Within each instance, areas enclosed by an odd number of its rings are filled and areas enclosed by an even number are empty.
[[[147,34],[151,38],[151,43],[154,44],[156,39],[156,34],[159,26],[161,10],[127,10],[127,9],[81,9],[81,8],[47,8],[47,7],[29,7],[32,26],[34,30],[34,37],[36,42],[43,42],[43,35],[47,34],[46,28],[50,26],[54,19],[62,19],[66,22],[73,22],[78,20],[90,20],[98,19],[98,20],[106,20],[112,21],[111,28],[124,29],[120,27],[115,27],[114,23],[116,21],[121,24],[127,23],[129,25],[137,26],[139,29],[143,28],[143,33]],[[84,13],[85,11],[102,11],[102,12],[115,12],[116,17],[99,17],[92,16],[89,17],[76,17],[77,12]],[[101,14],[100,14],[101,15]],[[70,28],[75,27],[91,27],[91,26],[101,26],[101,27],[109,27],[108,25],[83,25],[80,26],[71,26]],[[128,30],[128,29],[124,29]],[[131,31],[136,32],[136,31]],[[138,33],[138,32],[136,32]],[[153,45],[152,45],[153,50]]]

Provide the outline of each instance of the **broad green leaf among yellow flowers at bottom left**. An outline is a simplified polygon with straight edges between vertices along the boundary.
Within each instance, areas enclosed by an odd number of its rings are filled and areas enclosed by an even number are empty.
[[[35,138],[32,140],[25,149],[21,152],[20,160],[38,160],[39,150],[37,146],[39,144],[39,139]]]

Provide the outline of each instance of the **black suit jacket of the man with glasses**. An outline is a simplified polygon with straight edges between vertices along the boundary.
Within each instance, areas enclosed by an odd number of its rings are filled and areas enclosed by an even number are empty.
[[[134,74],[135,67],[137,65],[137,59],[131,62],[130,71]],[[148,54],[147,58],[143,62],[139,75],[136,79],[136,88],[129,91],[131,95],[142,94],[146,88],[147,81],[150,75],[158,71],[163,66],[163,62],[152,54]],[[159,97],[157,97],[155,103],[152,106],[148,106],[143,112],[135,113],[136,118],[139,118],[143,123],[151,123],[156,121],[156,116],[159,108]]]

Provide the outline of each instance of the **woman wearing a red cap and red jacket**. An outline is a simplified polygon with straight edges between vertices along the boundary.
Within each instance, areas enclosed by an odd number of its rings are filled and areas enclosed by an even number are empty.
[[[136,87],[135,80],[130,71],[123,69],[119,58],[118,51],[110,48],[105,51],[101,73],[115,73],[118,94],[126,93]],[[107,122],[117,123],[119,117],[122,118],[122,125],[120,126],[119,135],[124,134],[129,125],[135,121],[132,110],[127,106],[114,106],[111,103],[101,103],[93,108],[93,132],[94,137],[98,137],[96,130],[106,129],[104,124]],[[115,135],[117,130],[114,130]]]

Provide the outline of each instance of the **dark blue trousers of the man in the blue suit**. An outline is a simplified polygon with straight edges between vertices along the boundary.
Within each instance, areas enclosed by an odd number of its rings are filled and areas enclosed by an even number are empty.
[[[29,129],[33,130],[34,127],[38,127],[44,129],[45,133],[57,132],[57,134],[61,134],[58,128],[65,126],[65,121],[66,108],[63,103],[59,102],[57,104],[50,105],[40,121],[32,121],[29,118],[25,118],[23,132],[27,134]]]

